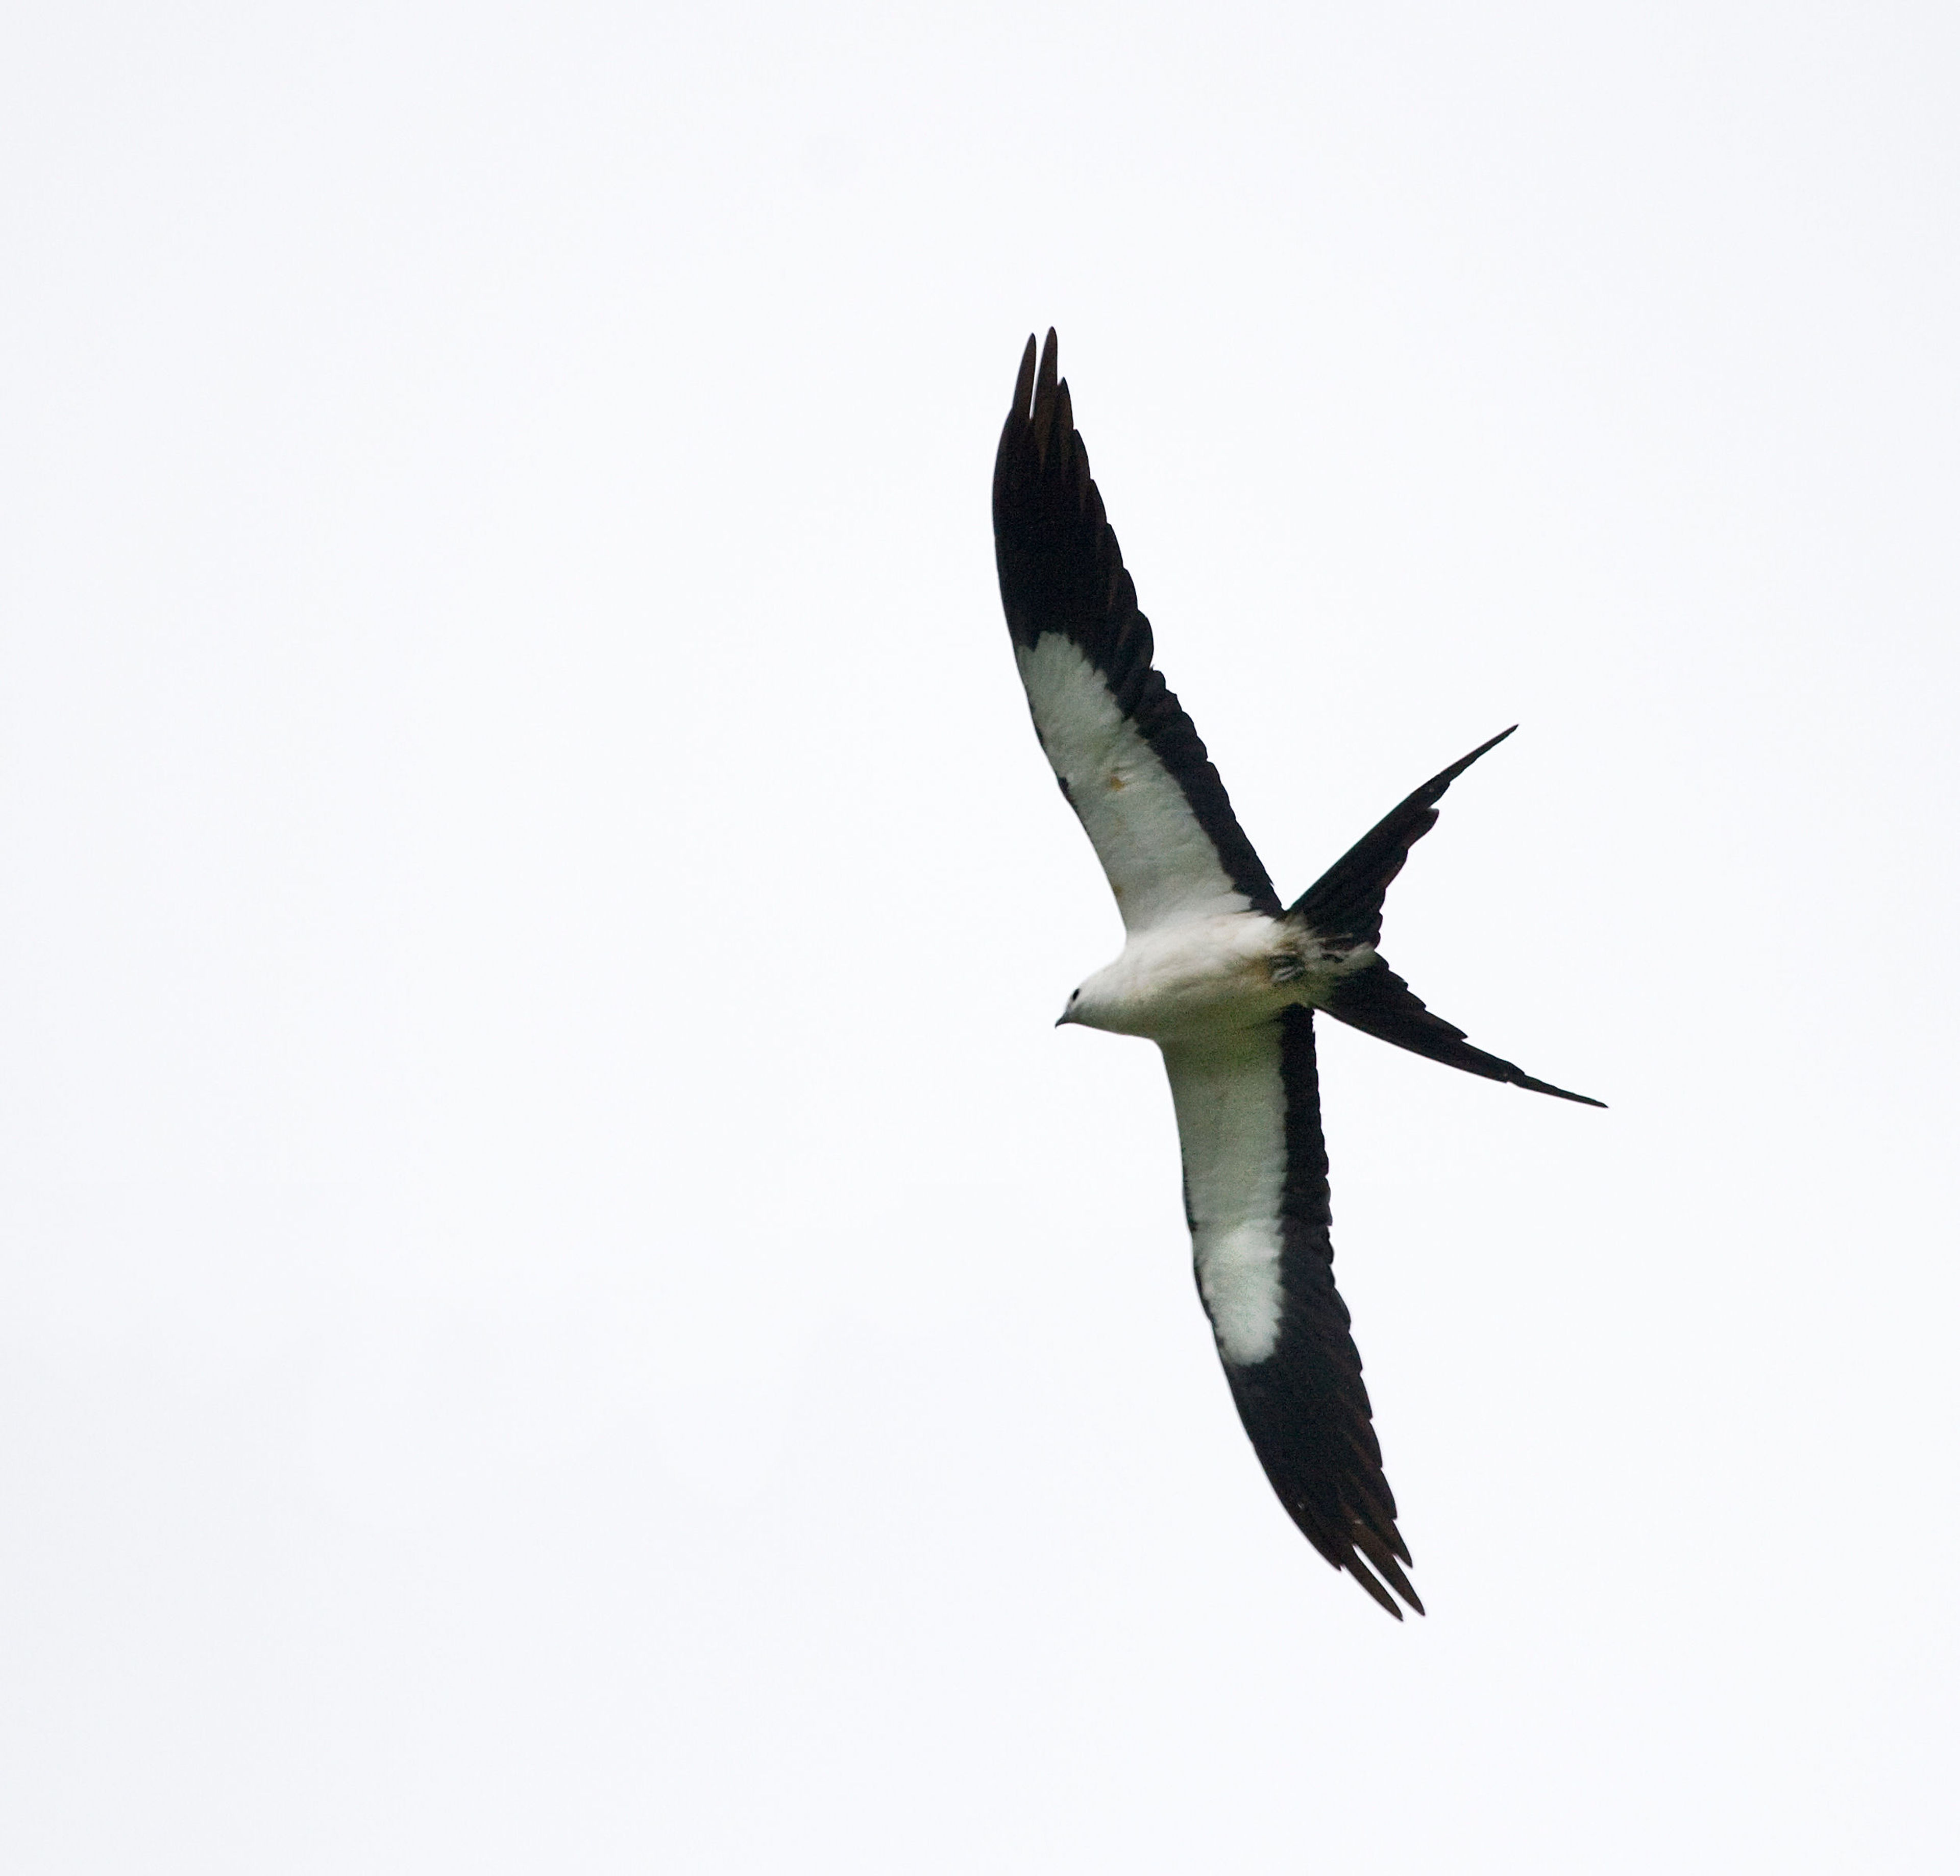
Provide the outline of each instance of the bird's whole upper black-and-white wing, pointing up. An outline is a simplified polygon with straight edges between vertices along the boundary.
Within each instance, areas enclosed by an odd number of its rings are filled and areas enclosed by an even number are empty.
[[[1192,719],[1151,666],[1151,621],[1090,478],[1054,333],[1027,341],[994,459],[1000,598],[1035,735],[1129,931],[1280,900]]]

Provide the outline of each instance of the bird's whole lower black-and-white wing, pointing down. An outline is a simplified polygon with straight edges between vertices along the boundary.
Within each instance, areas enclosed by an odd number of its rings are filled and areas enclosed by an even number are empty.
[[[1321,1556],[1397,1621],[1397,1596],[1421,1615],[1335,1290],[1313,1013],[1166,1043],[1164,1064],[1198,1294],[1252,1449]]]

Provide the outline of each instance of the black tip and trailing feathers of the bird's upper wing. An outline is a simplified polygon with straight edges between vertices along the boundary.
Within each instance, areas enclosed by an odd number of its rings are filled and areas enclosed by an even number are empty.
[[[1115,529],[1090,476],[1068,384],[1056,376],[1053,327],[1039,370],[1029,337],[1013,410],[1000,433],[994,561],[1013,643],[1033,647],[1043,633],[1058,631],[1080,647],[1184,792],[1225,876],[1256,912],[1278,917],[1280,896],[1231,810],[1198,729],[1151,665],[1151,621],[1137,610],[1137,586],[1123,568]]]

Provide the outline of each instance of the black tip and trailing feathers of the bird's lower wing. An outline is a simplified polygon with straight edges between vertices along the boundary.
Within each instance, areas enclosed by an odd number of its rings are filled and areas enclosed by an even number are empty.
[[[1280,1013],[1280,1078],[1286,1088],[1280,1339],[1260,1362],[1227,1362],[1225,1376],[1252,1451],[1307,1543],[1401,1621],[1396,1596],[1417,1615],[1423,1604],[1401,1568],[1409,1547],[1396,1529],[1396,1496],[1382,1472],[1360,1351],[1335,1290],[1313,1012],[1298,1004]]]

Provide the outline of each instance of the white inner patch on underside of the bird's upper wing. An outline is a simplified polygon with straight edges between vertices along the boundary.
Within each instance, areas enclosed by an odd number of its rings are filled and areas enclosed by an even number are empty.
[[[1176,776],[1123,716],[1103,674],[1058,631],[1015,659],[1035,733],[1068,784],[1127,931],[1249,912]]]

